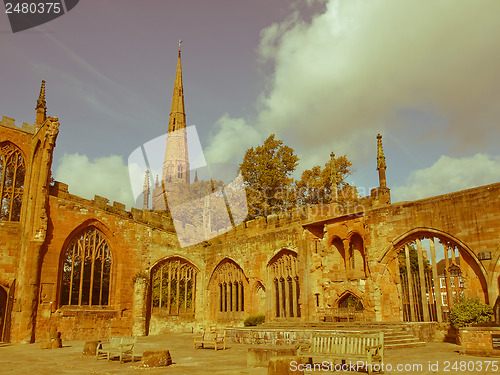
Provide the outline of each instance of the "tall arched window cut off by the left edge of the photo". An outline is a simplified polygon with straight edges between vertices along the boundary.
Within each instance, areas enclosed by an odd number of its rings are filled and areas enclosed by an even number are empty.
[[[25,173],[21,150],[10,142],[0,144],[0,221],[19,221]]]

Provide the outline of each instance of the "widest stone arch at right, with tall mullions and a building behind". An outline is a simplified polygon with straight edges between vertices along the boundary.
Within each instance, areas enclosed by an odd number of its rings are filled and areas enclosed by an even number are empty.
[[[385,285],[381,291],[386,316],[440,322],[448,320],[451,306],[461,296],[488,302],[484,266],[466,244],[443,231],[407,231],[392,241],[379,264],[376,283]],[[392,289],[388,277],[395,281]]]

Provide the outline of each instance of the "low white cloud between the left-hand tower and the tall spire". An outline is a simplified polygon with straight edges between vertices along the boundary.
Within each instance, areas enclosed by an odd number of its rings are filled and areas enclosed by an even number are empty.
[[[64,154],[54,178],[68,184],[71,194],[87,199],[100,195],[128,207],[134,205],[129,171],[121,156],[111,155],[89,160],[86,155]]]

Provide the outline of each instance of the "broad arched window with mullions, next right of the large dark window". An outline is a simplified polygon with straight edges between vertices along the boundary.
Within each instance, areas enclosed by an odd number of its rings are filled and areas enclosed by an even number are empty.
[[[153,315],[194,317],[199,268],[181,256],[157,261],[150,269],[150,310]]]

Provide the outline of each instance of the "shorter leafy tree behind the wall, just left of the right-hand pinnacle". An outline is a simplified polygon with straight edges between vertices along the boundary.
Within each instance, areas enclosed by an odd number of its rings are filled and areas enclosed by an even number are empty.
[[[356,188],[346,182],[346,177],[353,172],[351,161],[343,155],[334,158],[334,163],[332,168],[330,159],[323,168],[315,165],[302,172],[300,180],[295,182],[298,205],[330,203],[332,201],[332,171],[335,174],[333,178],[337,182],[337,202],[357,199]]]

